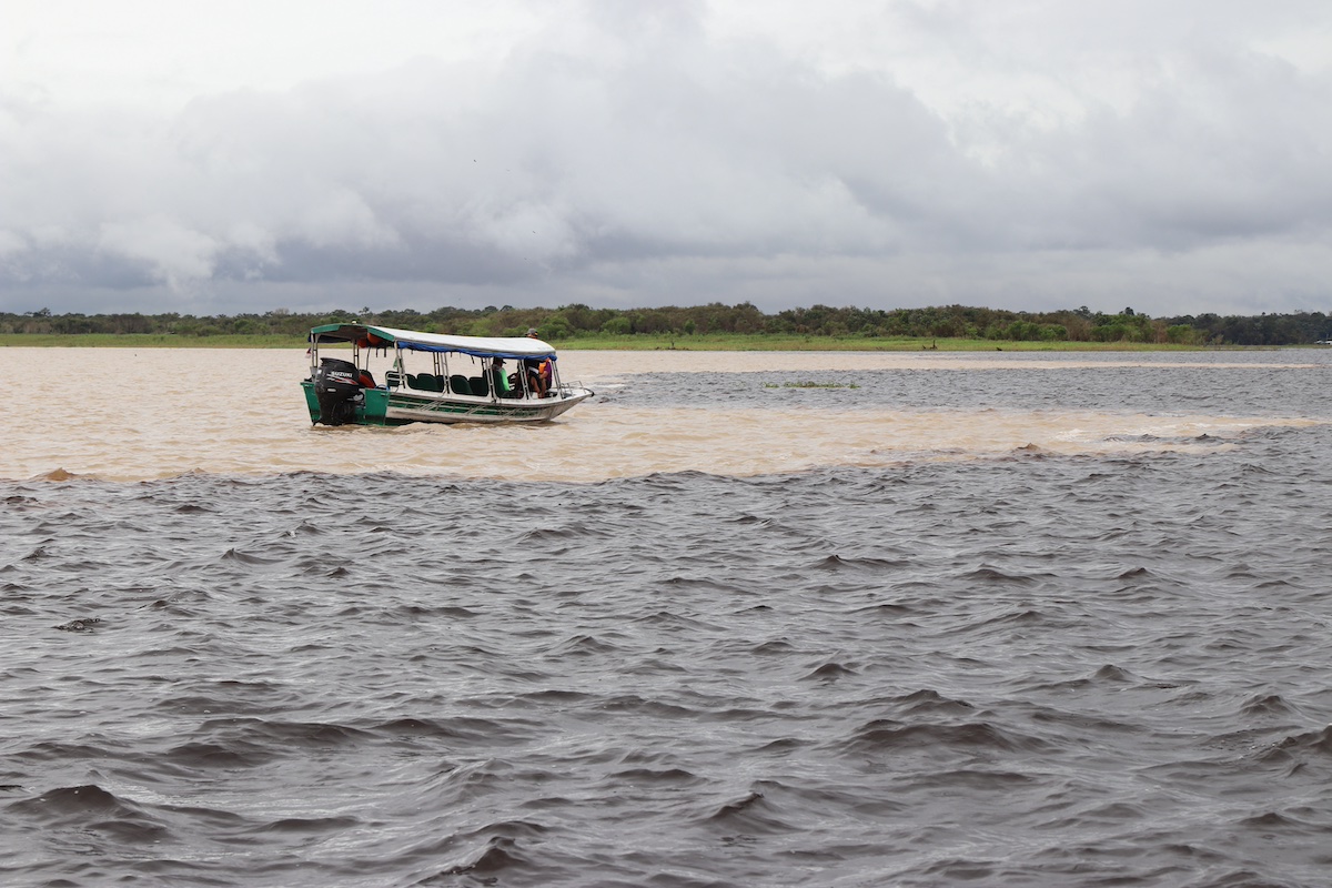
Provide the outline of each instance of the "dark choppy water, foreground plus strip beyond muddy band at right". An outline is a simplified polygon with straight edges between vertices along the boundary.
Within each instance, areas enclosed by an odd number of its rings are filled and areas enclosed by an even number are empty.
[[[1328,413],[1044,373],[931,403]],[[0,482],[0,883],[1325,885],[1329,445]]]

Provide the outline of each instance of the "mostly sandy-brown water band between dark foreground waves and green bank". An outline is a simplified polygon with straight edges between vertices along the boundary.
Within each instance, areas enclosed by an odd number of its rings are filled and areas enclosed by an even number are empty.
[[[1328,359],[566,351],[561,366],[598,398],[547,426],[325,429],[308,422],[296,385],[306,357],[297,350],[3,349],[0,371],[23,382],[0,478],[306,470],[601,481],[1014,450],[1207,451],[1256,426],[1321,422],[1316,398],[1297,401],[1317,390]],[[1228,374],[1227,387],[1212,402],[1207,381],[1217,373]]]

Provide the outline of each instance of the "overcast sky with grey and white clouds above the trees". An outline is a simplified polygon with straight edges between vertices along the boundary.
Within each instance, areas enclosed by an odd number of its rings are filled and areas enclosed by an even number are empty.
[[[4,0],[0,310],[1332,312],[1328,0]]]

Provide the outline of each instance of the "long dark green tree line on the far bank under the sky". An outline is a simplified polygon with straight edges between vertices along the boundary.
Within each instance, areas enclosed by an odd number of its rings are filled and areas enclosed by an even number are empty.
[[[1116,314],[1086,306],[1058,312],[1007,312],[948,305],[926,309],[862,309],[814,305],[765,314],[749,302],[655,309],[557,309],[486,306],[433,312],[334,309],[264,314],[53,314],[49,309],[0,313],[4,334],[170,334],[301,337],[321,324],[361,321],[381,326],[462,335],[522,335],[537,328],[551,342],[579,337],[670,334],[754,334],[839,338],[928,337],[1048,342],[1158,342],[1179,345],[1308,345],[1332,338],[1332,321],[1321,312],[1260,316],[1199,314],[1152,318],[1126,308]]]

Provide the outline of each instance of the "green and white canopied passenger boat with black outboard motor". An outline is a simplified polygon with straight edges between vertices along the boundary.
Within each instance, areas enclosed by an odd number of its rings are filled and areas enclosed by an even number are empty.
[[[301,387],[313,425],[547,422],[594,394],[559,378],[555,349],[535,330],[474,337],[326,324],[309,342]]]

